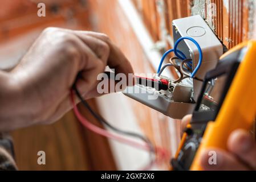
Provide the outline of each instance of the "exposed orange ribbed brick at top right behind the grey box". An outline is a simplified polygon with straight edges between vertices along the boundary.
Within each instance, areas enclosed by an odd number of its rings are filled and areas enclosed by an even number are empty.
[[[227,48],[253,37],[255,1],[253,0],[132,0],[143,16],[153,38],[161,39],[156,6],[164,1],[166,26],[173,19],[200,14]],[[170,34],[172,35],[171,30]]]

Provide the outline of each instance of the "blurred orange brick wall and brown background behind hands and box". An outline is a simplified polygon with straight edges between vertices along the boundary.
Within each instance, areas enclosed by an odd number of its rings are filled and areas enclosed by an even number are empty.
[[[39,2],[46,5],[46,17],[37,15]],[[254,12],[255,2],[250,0],[2,0],[0,69],[13,69],[40,32],[53,26],[104,32],[125,53],[136,73],[154,73],[161,53],[173,45],[173,19],[200,14],[224,49],[229,49],[253,38]],[[173,70],[168,74],[176,77]],[[179,121],[121,93],[89,103],[113,125],[147,135],[156,146],[165,148],[169,157],[175,154],[180,140]],[[79,109],[96,124],[86,109],[80,105]],[[132,170],[149,162],[147,152],[84,129],[72,111],[54,125],[21,129],[11,135],[19,169]],[[46,165],[38,165],[38,151],[46,152]],[[166,159],[153,169],[168,167]]]

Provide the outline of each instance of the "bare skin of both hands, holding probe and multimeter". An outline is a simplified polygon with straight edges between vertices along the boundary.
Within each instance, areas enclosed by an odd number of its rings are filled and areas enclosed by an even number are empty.
[[[70,89],[79,72],[82,79],[76,86],[83,97],[99,96],[96,77],[107,65],[116,73],[133,73],[127,58],[107,35],[47,28],[13,71],[0,71],[0,131],[57,121],[72,109]],[[190,119],[191,115],[182,119],[183,129]],[[228,152],[216,148],[204,151],[202,167],[256,169],[256,144],[246,131],[234,131],[227,146]],[[208,152],[212,150],[217,152],[217,165],[209,166]]]

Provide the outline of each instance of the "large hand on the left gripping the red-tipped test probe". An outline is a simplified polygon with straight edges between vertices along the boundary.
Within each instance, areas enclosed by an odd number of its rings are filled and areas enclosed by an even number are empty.
[[[106,35],[47,28],[9,75],[12,102],[9,109],[1,110],[5,117],[0,130],[52,123],[62,117],[72,108],[69,94],[79,72],[82,79],[76,86],[84,98],[99,96],[96,78],[107,65],[126,76],[133,73]]]

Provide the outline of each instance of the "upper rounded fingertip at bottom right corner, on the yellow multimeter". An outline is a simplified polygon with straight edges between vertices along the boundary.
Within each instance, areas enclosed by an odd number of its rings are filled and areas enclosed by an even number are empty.
[[[229,137],[227,146],[239,159],[256,170],[256,143],[248,132],[234,131]]]

